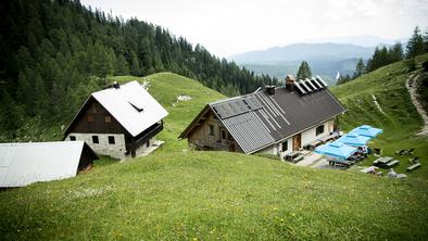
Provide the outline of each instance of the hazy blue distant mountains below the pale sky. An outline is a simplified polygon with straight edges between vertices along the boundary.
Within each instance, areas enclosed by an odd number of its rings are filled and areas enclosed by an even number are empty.
[[[376,47],[391,46],[398,41],[404,47],[407,39],[389,39],[369,35],[311,39],[284,47],[237,53],[228,56],[228,60],[255,74],[277,78],[295,74],[300,63],[306,61],[312,73],[323,76],[333,85],[337,72],[352,76],[360,58],[366,61],[373,55]]]

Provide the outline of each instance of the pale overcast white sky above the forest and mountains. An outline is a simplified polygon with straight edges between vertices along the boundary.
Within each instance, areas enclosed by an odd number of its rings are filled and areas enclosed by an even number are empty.
[[[168,28],[218,56],[310,39],[399,39],[428,26],[428,0],[80,0]]]

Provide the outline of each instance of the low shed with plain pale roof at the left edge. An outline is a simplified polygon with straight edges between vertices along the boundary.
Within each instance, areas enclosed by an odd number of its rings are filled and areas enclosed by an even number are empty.
[[[97,158],[84,141],[0,143],[0,188],[74,177]]]

